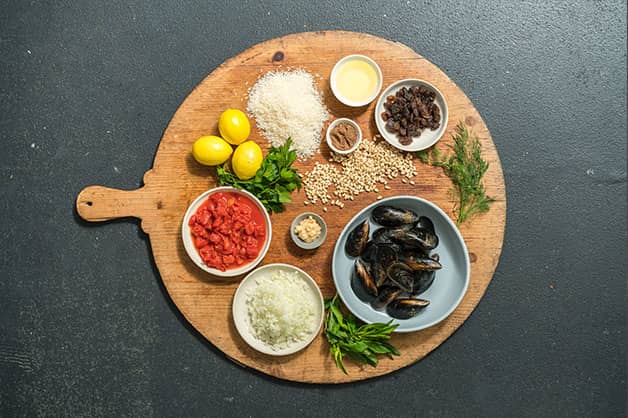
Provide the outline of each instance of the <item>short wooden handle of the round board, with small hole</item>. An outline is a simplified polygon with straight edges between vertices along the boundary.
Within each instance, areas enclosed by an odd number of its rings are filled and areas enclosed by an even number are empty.
[[[133,216],[142,218],[145,213],[145,189],[118,190],[103,186],[84,188],[76,198],[76,211],[90,222],[109,221]]]

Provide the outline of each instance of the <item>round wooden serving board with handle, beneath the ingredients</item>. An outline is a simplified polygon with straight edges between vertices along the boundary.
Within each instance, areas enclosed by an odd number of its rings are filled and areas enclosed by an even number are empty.
[[[487,194],[495,198],[488,213],[476,216],[460,228],[471,259],[471,281],[456,311],[429,329],[395,334],[392,343],[401,356],[382,358],[376,368],[346,361],[348,375],[340,372],[329,355],[322,335],[305,350],[286,357],[271,357],[249,348],[238,335],[231,318],[231,302],[241,278],[224,281],[209,276],[188,258],[181,239],[181,222],[188,205],[196,196],[216,186],[215,169],[197,164],[190,154],[192,144],[203,135],[218,134],[217,121],[227,108],[246,109],[247,91],[268,71],[302,68],[311,72],[324,96],[332,118],[350,117],[358,121],[366,137],[377,133],[373,119],[375,102],[365,108],[348,108],[338,102],[329,87],[329,75],[338,59],[349,54],[373,58],[382,69],[384,87],[403,78],[419,78],[434,84],[445,96],[449,107],[447,132],[437,144],[440,149],[452,143],[451,133],[458,121],[481,140],[483,156],[490,164],[484,183]],[[266,147],[252,121],[252,140]],[[315,161],[329,159],[329,149],[322,141],[321,152],[307,161],[297,161],[299,172],[309,171]],[[303,190],[293,194],[286,211],[271,215],[273,241],[262,264],[282,262],[307,271],[320,286],[323,295],[332,296],[332,250],[344,225],[361,208],[383,197],[410,194],[428,199],[453,218],[452,183],[441,169],[415,159],[416,184],[404,184],[400,178],[389,183],[391,190],[362,194],[347,201],[340,209],[303,202]],[[382,188],[383,189],[383,188]],[[170,121],[159,144],[153,168],[144,176],[144,186],[122,191],[101,186],[84,189],[76,202],[81,217],[89,221],[134,216],[142,220],[149,234],[155,262],[162,280],[185,318],[213,345],[234,361],[263,373],[299,382],[340,383],[383,375],[423,358],[438,347],[469,317],[491,281],[501,253],[506,221],[506,194],[499,156],[482,118],[467,96],[445,73],[410,48],[375,36],[353,32],[309,32],[272,39],[226,61],[205,78]],[[290,240],[289,225],[305,209],[324,216],[328,224],[326,242],[316,251],[305,251]]]

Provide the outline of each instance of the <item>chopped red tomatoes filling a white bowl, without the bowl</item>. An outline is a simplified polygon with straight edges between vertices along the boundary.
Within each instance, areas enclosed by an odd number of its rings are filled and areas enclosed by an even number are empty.
[[[249,198],[236,193],[210,195],[188,225],[203,262],[222,271],[255,260],[266,241],[262,211]]]

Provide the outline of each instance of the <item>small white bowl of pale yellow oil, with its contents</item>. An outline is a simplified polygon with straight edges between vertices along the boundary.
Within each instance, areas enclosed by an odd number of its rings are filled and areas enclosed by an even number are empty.
[[[371,103],[382,89],[382,70],[365,55],[347,55],[331,71],[331,91],[347,106]]]

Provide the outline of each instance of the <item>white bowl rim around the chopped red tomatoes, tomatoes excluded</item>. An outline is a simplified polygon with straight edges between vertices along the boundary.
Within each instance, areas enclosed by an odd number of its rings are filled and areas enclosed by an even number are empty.
[[[242,196],[246,196],[262,211],[262,214],[264,215],[264,222],[266,225],[266,240],[264,241],[264,246],[262,247],[257,258],[248,264],[244,264],[238,268],[230,269],[227,271],[221,271],[212,267],[208,267],[203,262],[203,259],[198,253],[198,250],[194,246],[194,242],[192,241],[192,232],[190,230],[190,226],[188,225],[188,222],[190,218],[192,217],[192,215],[194,215],[196,211],[198,210],[198,208],[200,208],[201,205],[205,203],[209,195],[212,195],[216,192],[230,192],[230,193],[235,193]],[[185,212],[185,216],[183,217],[183,225],[181,226],[181,236],[183,237],[183,246],[185,247],[185,251],[188,253],[188,256],[192,259],[194,264],[196,264],[199,268],[205,270],[207,273],[212,274],[214,276],[235,277],[235,276],[239,276],[241,274],[244,274],[250,271],[255,266],[257,266],[260,263],[260,261],[262,261],[262,259],[264,258],[264,256],[266,256],[266,253],[268,252],[268,248],[270,247],[270,241],[273,236],[273,230],[272,230],[272,225],[270,223],[270,216],[268,215],[268,211],[266,210],[262,202],[260,202],[257,197],[247,192],[246,190],[239,190],[233,187],[223,186],[223,187],[216,187],[214,189],[208,190],[205,193],[198,196],[196,199],[194,199],[192,204],[188,207],[188,210]]]

